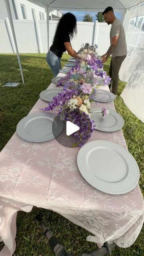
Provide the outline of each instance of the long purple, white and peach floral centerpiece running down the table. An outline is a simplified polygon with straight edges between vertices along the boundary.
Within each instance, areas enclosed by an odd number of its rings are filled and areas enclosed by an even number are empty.
[[[85,139],[91,136],[94,121],[91,120],[90,103],[96,95],[98,78],[103,78],[105,84],[109,79],[106,72],[98,70],[103,64],[96,58],[97,46],[85,44],[83,47],[84,49],[79,51],[80,62],[76,63],[76,68],[72,68],[57,84],[65,84],[62,92],[54,96],[46,108],[41,108],[42,111],[55,110],[61,120],[73,122],[80,127],[77,132],[71,134],[77,140],[74,146],[83,146]],[[86,52],[83,52],[84,50]],[[101,112],[104,117],[108,114],[106,108],[102,108]]]

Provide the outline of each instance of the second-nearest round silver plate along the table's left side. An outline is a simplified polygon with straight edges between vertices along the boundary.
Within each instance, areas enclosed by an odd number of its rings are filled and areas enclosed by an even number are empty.
[[[54,96],[56,96],[58,93],[60,93],[61,90],[59,88],[44,90],[40,93],[40,98],[42,100],[46,100],[48,102],[51,102]]]

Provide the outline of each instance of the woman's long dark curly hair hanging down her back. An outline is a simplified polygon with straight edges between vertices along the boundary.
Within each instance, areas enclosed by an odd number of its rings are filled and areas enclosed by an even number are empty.
[[[70,39],[73,38],[74,34],[77,34],[76,17],[70,12],[67,12],[60,18],[54,40],[59,40],[64,33],[68,33]]]

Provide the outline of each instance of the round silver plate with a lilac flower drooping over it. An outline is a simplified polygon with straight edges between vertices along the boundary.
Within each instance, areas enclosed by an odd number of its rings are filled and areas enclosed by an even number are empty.
[[[91,108],[90,112],[101,111],[102,108]],[[94,128],[103,132],[115,132],[124,126],[124,119],[115,110],[108,109],[109,114],[106,117],[102,113],[94,113],[91,120],[94,120]]]

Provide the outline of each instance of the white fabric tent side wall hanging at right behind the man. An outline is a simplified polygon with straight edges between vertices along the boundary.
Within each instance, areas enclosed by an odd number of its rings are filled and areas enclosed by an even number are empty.
[[[124,28],[128,55],[120,69],[127,82],[121,97],[130,111],[144,122],[144,6],[126,12]]]

